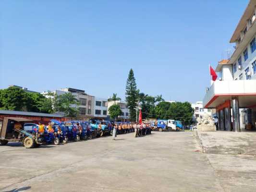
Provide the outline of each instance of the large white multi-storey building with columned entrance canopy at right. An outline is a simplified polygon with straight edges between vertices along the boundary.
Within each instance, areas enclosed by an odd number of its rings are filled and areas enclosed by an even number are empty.
[[[219,72],[220,79],[211,85],[204,97],[204,108],[216,108],[219,130],[241,131],[241,127],[247,125],[255,127],[255,15],[256,0],[250,0],[230,40],[230,43],[235,43],[235,50],[229,60],[218,63],[216,72]],[[246,113],[246,117],[241,111]]]

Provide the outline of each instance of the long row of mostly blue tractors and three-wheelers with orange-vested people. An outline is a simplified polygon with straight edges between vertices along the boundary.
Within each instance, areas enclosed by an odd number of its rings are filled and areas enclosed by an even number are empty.
[[[130,123],[117,122],[118,134],[134,132]],[[0,144],[21,142],[24,147],[38,147],[41,144],[60,144],[68,141],[87,140],[103,135],[111,135],[114,122],[108,120],[58,121],[50,120],[48,125],[34,123],[24,118],[4,118],[0,120]]]

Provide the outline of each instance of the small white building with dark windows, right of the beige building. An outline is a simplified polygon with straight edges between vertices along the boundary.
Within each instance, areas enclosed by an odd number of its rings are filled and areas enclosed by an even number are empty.
[[[108,117],[108,99],[95,97],[94,117],[106,119]]]

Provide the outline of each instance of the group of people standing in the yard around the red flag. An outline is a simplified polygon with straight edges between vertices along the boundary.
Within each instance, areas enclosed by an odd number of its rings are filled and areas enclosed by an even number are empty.
[[[112,132],[112,139],[115,140],[117,136],[117,132],[122,128],[122,124],[114,123],[113,132]],[[141,137],[142,135],[151,134],[151,125],[150,123],[128,123],[124,125],[125,128],[128,130],[134,130],[134,137]]]

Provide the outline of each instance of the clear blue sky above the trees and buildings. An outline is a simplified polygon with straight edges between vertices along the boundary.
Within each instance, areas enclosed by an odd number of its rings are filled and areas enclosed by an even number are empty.
[[[248,0],[3,0],[0,88],[202,100]]]

